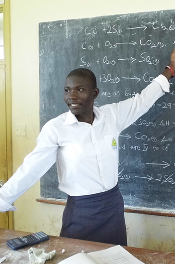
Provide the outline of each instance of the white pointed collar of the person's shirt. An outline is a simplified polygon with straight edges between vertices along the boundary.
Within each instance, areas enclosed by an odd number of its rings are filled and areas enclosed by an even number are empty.
[[[105,116],[98,108],[93,107],[93,113],[95,115],[95,118],[92,126],[97,126],[99,123],[104,122]],[[74,123],[77,123],[79,125],[84,124],[83,122],[79,122],[76,116],[71,113],[71,110],[69,110],[63,125],[72,125]]]

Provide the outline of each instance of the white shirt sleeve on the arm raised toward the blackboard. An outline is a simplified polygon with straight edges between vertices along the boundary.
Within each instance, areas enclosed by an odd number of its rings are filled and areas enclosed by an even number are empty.
[[[116,104],[117,108],[117,129],[121,133],[139,117],[148,112],[153,104],[170,91],[170,83],[164,75],[159,75],[149,84],[141,94],[121,101]]]

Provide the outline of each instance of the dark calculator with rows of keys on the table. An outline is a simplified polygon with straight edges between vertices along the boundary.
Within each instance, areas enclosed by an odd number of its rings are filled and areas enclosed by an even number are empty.
[[[49,239],[49,236],[46,235],[44,232],[37,232],[31,235],[27,235],[24,237],[14,238],[7,240],[6,244],[12,250],[18,250],[23,247],[31,246],[33,244],[37,244]]]

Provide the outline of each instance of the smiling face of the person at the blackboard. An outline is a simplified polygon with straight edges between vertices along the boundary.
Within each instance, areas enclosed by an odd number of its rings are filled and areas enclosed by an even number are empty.
[[[79,117],[93,115],[93,102],[98,95],[98,88],[93,88],[90,80],[79,76],[66,79],[64,100],[72,114]]]

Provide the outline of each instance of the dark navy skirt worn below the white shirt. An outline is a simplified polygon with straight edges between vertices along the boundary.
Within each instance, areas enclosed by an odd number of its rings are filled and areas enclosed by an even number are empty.
[[[68,196],[60,236],[127,246],[124,202],[118,184],[101,193]]]

